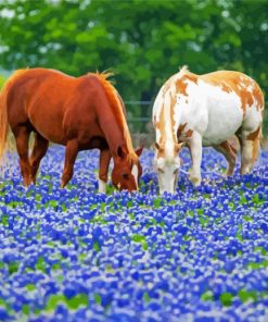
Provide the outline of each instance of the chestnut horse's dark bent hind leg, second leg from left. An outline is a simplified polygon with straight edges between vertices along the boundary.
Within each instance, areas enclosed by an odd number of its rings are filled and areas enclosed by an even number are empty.
[[[43,138],[39,133],[35,134],[34,148],[29,158],[30,163],[30,178],[36,184],[36,174],[42,157],[49,148],[49,141]]]

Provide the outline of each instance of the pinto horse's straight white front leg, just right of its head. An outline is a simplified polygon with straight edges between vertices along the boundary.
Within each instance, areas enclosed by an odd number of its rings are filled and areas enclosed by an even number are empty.
[[[191,139],[188,143],[191,158],[192,168],[190,170],[189,179],[194,186],[201,184],[201,160],[202,160],[202,136],[197,132],[193,132]]]

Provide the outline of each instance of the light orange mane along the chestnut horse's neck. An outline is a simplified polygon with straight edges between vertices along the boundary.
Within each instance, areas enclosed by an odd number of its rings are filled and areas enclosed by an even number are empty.
[[[128,149],[128,160],[129,162],[131,162],[132,160],[133,161],[138,161],[138,157],[133,150],[133,147],[132,147],[132,141],[131,141],[131,137],[130,137],[130,133],[129,133],[129,129],[128,129],[128,126],[127,126],[127,122],[126,122],[126,119],[125,119],[125,115],[123,113],[123,108],[122,108],[122,103],[119,101],[119,98],[118,98],[118,92],[117,90],[114,88],[114,86],[112,85],[112,82],[111,81],[107,81],[107,78],[110,76],[113,75],[113,73],[110,73],[110,72],[102,72],[102,73],[88,73],[88,75],[93,75],[95,76],[102,84],[105,92],[106,92],[106,96],[107,96],[107,99],[112,106],[112,109],[114,111],[114,114],[115,114],[115,117],[117,119],[119,125],[123,126],[123,131],[124,131],[124,137],[126,139],[126,143],[127,143],[127,149]]]

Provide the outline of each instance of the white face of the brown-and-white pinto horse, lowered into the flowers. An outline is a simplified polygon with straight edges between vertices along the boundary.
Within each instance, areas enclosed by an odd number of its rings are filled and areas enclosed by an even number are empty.
[[[165,191],[175,194],[178,182],[178,172],[180,169],[180,158],[178,152],[183,144],[158,145],[155,144],[156,153],[154,157],[154,166],[159,183],[159,194]]]

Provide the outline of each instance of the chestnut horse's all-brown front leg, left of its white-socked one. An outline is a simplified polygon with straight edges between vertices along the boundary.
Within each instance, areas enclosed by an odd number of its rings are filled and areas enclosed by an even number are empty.
[[[78,153],[78,141],[77,139],[72,139],[67,141],[65,150],[65,162],[62,175],[61,187],[64,188],[66,184],[71,181],[74,173],[74,164]]]

